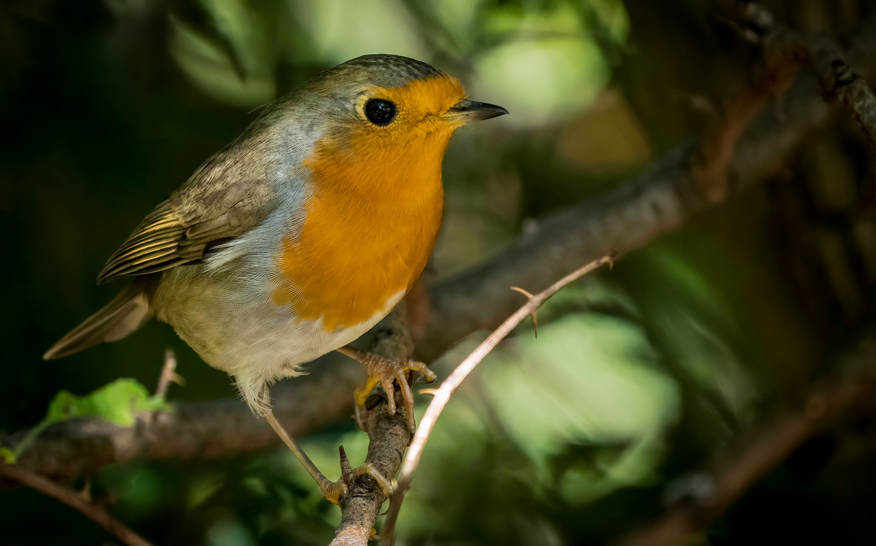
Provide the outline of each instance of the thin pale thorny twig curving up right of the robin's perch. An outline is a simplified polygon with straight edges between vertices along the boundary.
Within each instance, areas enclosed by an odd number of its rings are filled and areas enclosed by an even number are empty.
[[[563,286],[606,263],[611,267],[613,258],[613,254],[606,255],[598,260],[590,262],[583,266],[583,268],[576,269],[572,273],[569,273],[569,275],[562,277],[559,281],[548,286],[547,289],[529,297],[529,301],[527,301],[526,304],[520,307],[517,311],[514,311],[512,316],[506,318],[505,322],[499,325],[499,327],[492,332],[487,339],[484,339],[484,341],[478,345],[477,348],[475,348],[475,350],[472,351],[455,370],[453,370],[453,373],[442,382],[441,387],[434,390],[434,393],[431,393],[434,397],[432,398],[432,402],[429,402],[426,413],[420,420],[420,428],[418,428],[413,435],[413,440],[411,441],[411,445],[405,456],[405,462],[402,463],[401,466],[399,486],[396,487],[395,493],[392,493],[390,509],[386,516],[386,523],[381,534],[381,541],[384,544],[392,544],[394,538],[393,535],[395,534],[395,521],[399,517],[401,501],[404,499],[405,493],[411,486],[413,472],[417,469],[417,465],[420,464],[420,457],[422,457],[423,448],[426,447],[426,442],[429,439],[429,435],[432,433],[432,429],[434,429],[438,416],[441,415],[444,406],[449,402],[450,395],[453,394],[456,388],[458,388],[468,374],[471,373],[471,370],[475,369],[477,364],[479,364],[481,360],[484,360],[484,357],[498,345],[498,342],[505,339],[505,336],[511,333],[512,330],[519,325],[521,320],[538,310],[542,304],[548,301],[549,297],[553,296],[557,290],[560,290]]]

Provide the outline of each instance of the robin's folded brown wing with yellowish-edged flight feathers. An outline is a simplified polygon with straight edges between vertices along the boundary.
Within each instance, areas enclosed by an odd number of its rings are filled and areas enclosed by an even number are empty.
[[[148,214],[97,276],[98,283],[197,262],[211,242],[242,235],[277,207],[267,163],[250,142],[231,144]]]

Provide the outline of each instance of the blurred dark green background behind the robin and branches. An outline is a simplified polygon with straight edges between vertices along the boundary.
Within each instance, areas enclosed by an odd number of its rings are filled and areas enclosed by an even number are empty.
[[[4,266],[0,433],[60,389],[235,396],[167,325],[44,362],[117,284],[96,273],[152,207],[244,130],[252,109],[369,52],[423,59],[512,112],[460,130],[429,270],[447,276],[549,212],[610,190],[702,134],[751,54],[709,0],[105,0],[0,3]],[[863,0],[766,3],[841,33]],[[817,374],[872,320],[874,159],[853,123],[811,138],[767,184],[562,290],[484,361],[442,416],[399,521],[410,544],[601,544],[659,514],[672,485]],[[574,264],[571,264],[574,265]],[[435,365],[446,376],[484,334]],[[876,425],[845,417],[701,536],[710,544],[876,542]],[[353,461],[351,422],[307,438]],[[333,470],[329,475],[337,473]],[[131,463],[92,478],[159,545],[325,544],[338,511],[285,451]],[[0,542],[109,544],[26,488],[0,491]]]

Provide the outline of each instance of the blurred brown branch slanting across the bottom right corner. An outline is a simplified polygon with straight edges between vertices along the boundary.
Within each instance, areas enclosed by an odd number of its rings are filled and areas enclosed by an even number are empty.
[[[833,421],[845,409],[872,396],[876,386],[876,325],[868,325],[851,353],[841,355],[838,376],[816,388],[805,402],[778,412],[759,426],[740,434],[713,461],[710,469],[692,478],[707,486],[705,493],[676,495],[678,500],[660,519],[625,537],[618,546],[675,546],[689,543],[739,495],[791,451]]]

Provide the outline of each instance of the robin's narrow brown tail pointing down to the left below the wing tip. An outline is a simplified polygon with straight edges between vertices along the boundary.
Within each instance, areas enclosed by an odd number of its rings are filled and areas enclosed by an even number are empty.
[[[145,283],[135,280],[100,311],[67,332],[46,351],[43,360],[63,358],[104,341],[122,339],[152,318],[153,314]]]

